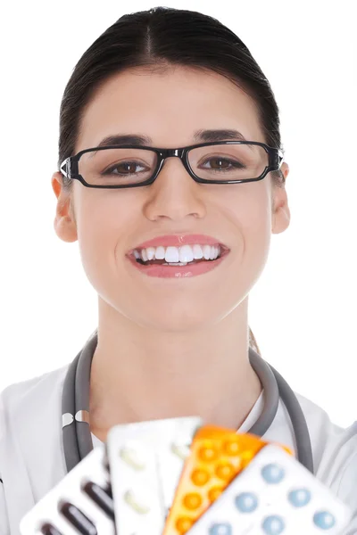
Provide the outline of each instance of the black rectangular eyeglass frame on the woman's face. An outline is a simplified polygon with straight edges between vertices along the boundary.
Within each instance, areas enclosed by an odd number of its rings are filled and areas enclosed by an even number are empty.
[[[269,165],[266,167],[262,175],[257,178],[247,178],[247,179],[240,179],[240,180],[206,180],[205,178],[197,177],[195,175],[195,172],[191,168],[189,161],[188,161],[188,152],[192,149],[198,148],[198,147],[204,147],[208,145],[218,145],[218,144],[256,144],[263,147],[263,149],[268,152],[269,155]],[[140,149],[144,151],[152,151],[156,152],[157,154],[157,165],[154,169],[154,174],[152,177],[148,178],[144,182],[140,182],[139,184],[130,184],[130,185],[94,185],[94,184],[88,184],[84,177],[82,175],[79,175],[79,159],[82,156],[82,154],[85,154],[86,152],[94,152],[94,151],[104,151],[108,149]],[[242,182],[256,182],[258,180],[262,180],[270,171],[278,171],[280,169],[281,163],[283,161],[283,153],[280,149],[270,147],[269,145],[265,143],[261,143],[259,141],[217,141],[215,143],[207,142],[207,143],[201,143],[201,144],[194,144],[194,145],[188,145],[186,147],[179,147],[178,149],[159,149],[157,147],[148,147],[148,146],[142,146],[142,145],[133,145],[133,144],[120,144],[120,145],[107,145],[104,147],[92,147],[90,149],[84,149],[83,151],[78,152],[74,156],[69,156],[64,161],[62,161],[61,164],[61,173],[64,175],[64,177],[79,180],[83,185],[86,187],[96,187],[96,188],[104,188],[104,189],[120,189],[120,188],[127,188],[127,187],[139,187],[142,185],[150,185],[153,184],[154,180],[158,177],[160,171],[162,170],[162,166],[166,158],[170,158],[171,156],[177,156],[182,161],[185,169],[187,170],[187,173],[192,177],[195,182],[199,182],[201,184],[240,184]]]

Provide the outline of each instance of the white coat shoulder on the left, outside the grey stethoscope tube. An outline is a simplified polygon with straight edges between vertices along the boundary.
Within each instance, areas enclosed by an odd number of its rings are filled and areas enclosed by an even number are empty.
[[[0,515],[3,507],[9,533],[18,532],[23,515],[65,474],[62,384],[68,367],[12,383],[0,392]]]

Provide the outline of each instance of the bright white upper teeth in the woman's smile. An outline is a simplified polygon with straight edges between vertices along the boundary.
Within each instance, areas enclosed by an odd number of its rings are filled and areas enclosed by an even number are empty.
[[[170,264],[187,264],[194,260],[213,260],[220,256],[220,245],[181,245],[181,247],[147,247],[138,251],[133,251],[136,259],[163,260]]]

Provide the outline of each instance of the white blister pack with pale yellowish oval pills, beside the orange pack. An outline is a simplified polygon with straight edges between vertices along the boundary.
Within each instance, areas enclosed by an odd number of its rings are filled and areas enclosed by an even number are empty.
[[[190,445],[196,416],[116,425],[108,432],[115,524],[118,535],[160,535]]]

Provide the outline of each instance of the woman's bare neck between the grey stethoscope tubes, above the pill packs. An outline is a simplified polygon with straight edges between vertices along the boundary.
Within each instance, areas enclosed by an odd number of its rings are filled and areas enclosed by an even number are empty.
[[[115,424],[179,416],[237,429],[262,391],[249,363],[245,301],[209,328],[159,332],[100,300],[91,432],[105,440]]]

